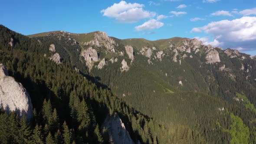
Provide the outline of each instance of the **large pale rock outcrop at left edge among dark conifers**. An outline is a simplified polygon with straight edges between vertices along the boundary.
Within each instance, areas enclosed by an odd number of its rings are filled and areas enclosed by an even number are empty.
[[[1,64],[0,75],[7,70],[3,70],[4,66]],[[11,76],[3,76],[0,78],[0,103],[5,111],[15,111],[20,117],[26,115],[27,119],[33,117],[33,106],[30,100],[30,95],[23,88],[21,83],[15,81]]]

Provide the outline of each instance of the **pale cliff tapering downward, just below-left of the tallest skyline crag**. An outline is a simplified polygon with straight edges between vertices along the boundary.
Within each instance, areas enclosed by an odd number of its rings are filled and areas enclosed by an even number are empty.
[[[88,49],[82,51],[81,56],[85,58],[85,65],[89,68],[89,71],[91,71],[93,62],[98,62],[97,51],[92,49],[92,47],[89,47]]]

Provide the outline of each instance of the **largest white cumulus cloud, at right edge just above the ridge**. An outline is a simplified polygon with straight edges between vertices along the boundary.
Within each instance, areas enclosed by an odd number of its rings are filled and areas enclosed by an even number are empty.
[[[244,16],[235,20],[211,22],[203,27],[195,27],[191,32],[211,34],[216,39],[214,39],[215,42],[213,40],[213,43],[220,43],[224,48],[243,47],[247,50],[256,49],[255,16]]]

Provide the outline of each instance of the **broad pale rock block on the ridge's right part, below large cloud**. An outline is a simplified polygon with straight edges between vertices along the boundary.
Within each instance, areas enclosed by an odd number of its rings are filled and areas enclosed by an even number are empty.
[[[220,56],[219,56],[219,52],[215,49],[213,49],[212,46],[208,45],[206,47],[206,63],[207,64],[213,64],[216,62],[220,62]]]

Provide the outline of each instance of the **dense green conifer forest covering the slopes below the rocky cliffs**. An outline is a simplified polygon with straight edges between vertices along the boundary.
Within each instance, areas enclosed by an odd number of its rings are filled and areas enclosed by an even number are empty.
[[[2,144],[110,143],[101,126],[105,117],[115,112],[135,143],[256,143],[256,100],[252,90],[255,83],[245,83],[244,75],[239,72],[234,83],[213,66],[190,70],[192,66],[186,64],[181,69],[189,72],[194,80],[191,78],[190,86],[183,89],[171,85],[180,70],[171,69],[175,64],[168,63],[167,59],[163,59],[164,65],[152,67],[135,61],[129,72],[122,73],[120,63],[113,63],[102,70],[92,69],[90,76],[76,53],[82,49],[79,46],[68,47],[69,43],[64,41],[63,46],[56,46],[62,56],[62,63],[56,65],[48,59],[49,45],[56,39],[42,38],[39,42],[4,26],[0,26],[0,36],[0,63],[26,88],[34,108],[30,121],[14,112],[7,114],[1,108]],[[13,47],[8,44],[11,38]],[[64,46],[65,50],[60,49]],[[147,63],[142,56],[137,59]],[[255,65],[251,61],[247,63]],[[81,72],[76,72],[74,67]],[[167,67],[165,71],[173,78],[166,79],[165,72],[159,73],[157,69],[161,67]],[[211,70],[213,78],[218,78],[210,90],[207,77],[198,76],[206,69]],[[225,88],[230,90],[229,94],[224,93]],[[244,101],[233,101],[234,95]],[[223,107],[224,111],[218,110]]]

